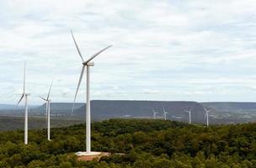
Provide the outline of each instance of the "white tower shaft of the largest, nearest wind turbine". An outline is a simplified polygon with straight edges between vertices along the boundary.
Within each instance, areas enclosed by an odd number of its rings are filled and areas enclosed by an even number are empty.
[[[87,67],[86,73],[86,152],[91,152],[91,104],[90,104],[90,66]]]

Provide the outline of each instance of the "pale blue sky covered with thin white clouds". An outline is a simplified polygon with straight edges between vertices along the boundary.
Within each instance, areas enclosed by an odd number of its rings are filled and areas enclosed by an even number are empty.
[[[94,60],[101,100],[256,102],[253,0],[0,0],[0,103],[72,102],[82,62]],[[85,80],[77,102],[85,101]]]

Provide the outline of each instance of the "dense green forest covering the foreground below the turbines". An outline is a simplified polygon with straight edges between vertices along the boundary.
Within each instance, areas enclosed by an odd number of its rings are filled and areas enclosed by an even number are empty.
[[[77,161],[85,150],[85,125],[0,133],[0,167],[256,167],[256,123],[211,126],[149,119],[110,119],[92,124],[92,150],[125,153]]]

